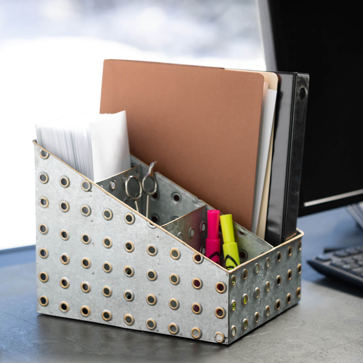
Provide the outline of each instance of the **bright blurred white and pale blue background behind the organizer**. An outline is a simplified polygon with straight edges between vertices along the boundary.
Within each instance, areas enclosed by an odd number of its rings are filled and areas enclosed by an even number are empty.
[[[34,124],[98,113],[109,58],[266,70],[255,0],[1,0],[0,249],[35,244]]]

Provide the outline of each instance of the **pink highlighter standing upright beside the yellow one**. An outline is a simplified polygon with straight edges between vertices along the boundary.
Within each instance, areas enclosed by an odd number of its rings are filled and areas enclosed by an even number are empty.
[[[205,256],[219,264],[220,239],[218,238],[219,211],[207,211],[207,238],[205,238]]]

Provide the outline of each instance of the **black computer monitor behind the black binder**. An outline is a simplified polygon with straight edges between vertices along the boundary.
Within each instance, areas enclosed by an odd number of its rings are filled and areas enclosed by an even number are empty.
[[[361,13],[310,0],[259,7],[268,70],[310,74],[299,216],[362,201]]]

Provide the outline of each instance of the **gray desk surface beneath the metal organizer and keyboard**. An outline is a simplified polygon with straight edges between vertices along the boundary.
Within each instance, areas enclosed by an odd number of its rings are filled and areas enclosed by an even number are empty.
[[[35,250],[0,254],[0,362],[362,362],[363,291],[315,272],[324,247],[363,244],[346,209],[302,217],[301,302],[230,346],[36,313]]]

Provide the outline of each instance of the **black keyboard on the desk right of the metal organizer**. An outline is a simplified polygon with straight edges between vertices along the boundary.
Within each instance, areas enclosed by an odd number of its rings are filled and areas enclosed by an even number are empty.
[[[363,246],[324,253],[307,263],[318,272],[363,287]]]

